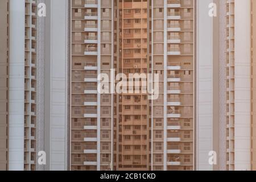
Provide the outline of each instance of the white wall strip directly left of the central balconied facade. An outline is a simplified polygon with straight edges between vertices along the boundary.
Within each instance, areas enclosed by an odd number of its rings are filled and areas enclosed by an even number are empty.
[[[46,131],[47,169],[68,166],[68,0],[47,0]]]

